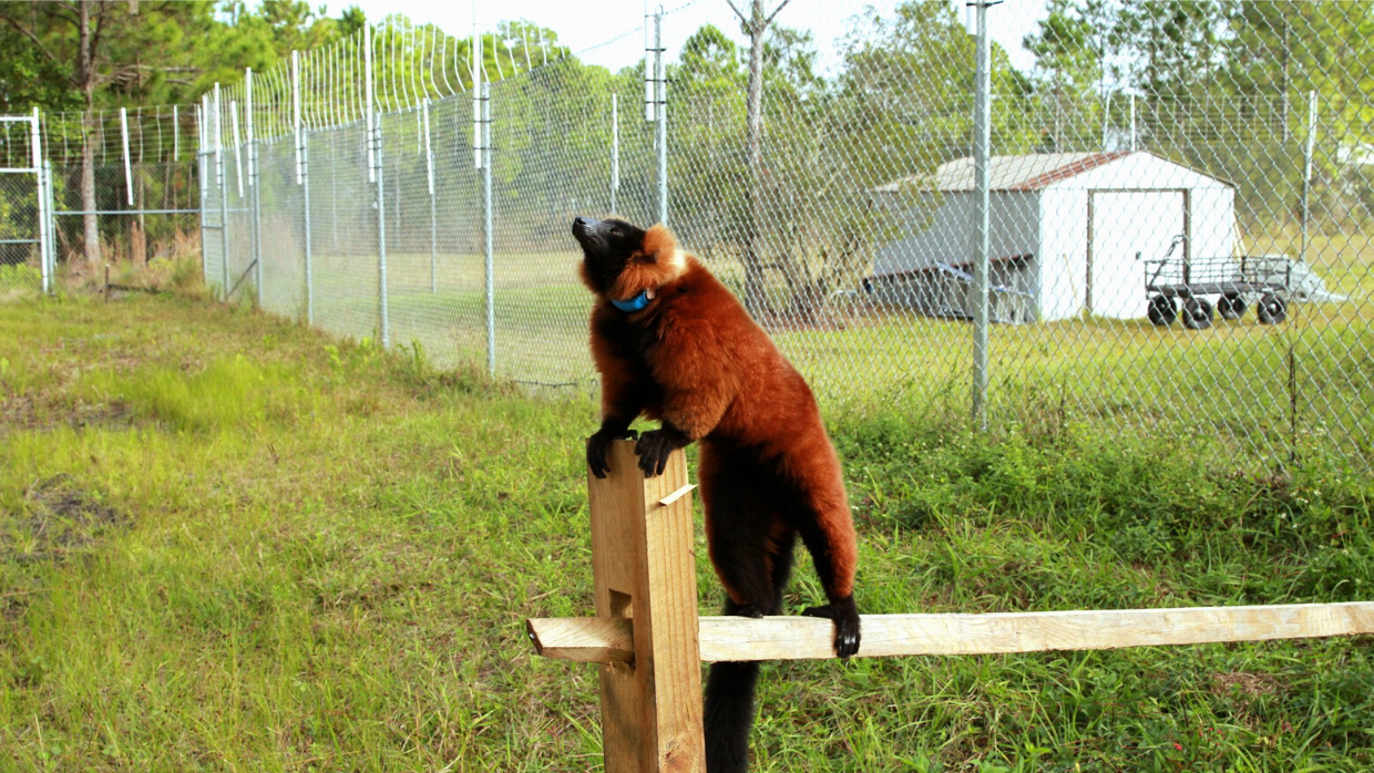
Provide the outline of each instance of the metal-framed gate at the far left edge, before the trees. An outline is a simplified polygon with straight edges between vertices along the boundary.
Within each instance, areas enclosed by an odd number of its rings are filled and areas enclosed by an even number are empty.
[[[38,110],[0,115],[0,299],[52,291],[51,180],[43,161]]]

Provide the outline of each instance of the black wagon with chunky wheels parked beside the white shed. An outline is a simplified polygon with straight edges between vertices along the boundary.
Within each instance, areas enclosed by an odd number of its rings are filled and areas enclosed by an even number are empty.
[[[1307,284],[1320,284],[1305,264],[1286,255],[1176,258],[1175,251],[1186,243],[1187,238],[1175,236],[1162,258],[1143,261],[1146,313],[1157,327],[1172,325],[1182,310],[1183,327],[1205,330],[1215,314],[1239,320],[1252,303],[1260,324],[1279,324],[1287,319],[1292,301],[1307,299]],[[1325,287],[1320,292],[1329,295]]]

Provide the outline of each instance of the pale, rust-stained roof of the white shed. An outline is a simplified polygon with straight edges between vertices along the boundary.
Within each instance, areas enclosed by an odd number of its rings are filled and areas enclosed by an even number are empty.
[[[1059,183],[1096,169],[1118,158],[1143,154],[1164,163],[1173,163],[1149,151],[1113,152],[1032,152],[1021,155],[995,155],[988,159],[988,188],[992,191],[1041,191]],[[894,194],[911,185],[936,191],[973,191],[973,157],[956,158],[941,163],[934,176],[915,176],[893,180],[874,188],[878,192]]]

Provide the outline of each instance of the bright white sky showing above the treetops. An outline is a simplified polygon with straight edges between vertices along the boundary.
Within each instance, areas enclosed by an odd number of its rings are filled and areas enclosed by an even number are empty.
[[[687,0],[666,0],[669,11],[682,7]],[[743,7],[749,0],[739,0]],[[774,8],[778,0],[767,0],[765,8]],[[965,16],[963,3],[949,0]],[[448,34],[466,37],[471,34],[475,14],[480,29],[491,30],[504,19],[528,19],[558,33],[559,41],[574,52],[633,30],[643,22],[644,0],[491,0],[444,1],[444,0],[330,0],[328,12],[337,15],[346,5],[357,4],[370,21],[381,21],[387,14],[405,14],[416,23],[433,23]],[[834,51],[834,41],[842,36],[849,19],[864,5],[878,8],[889,15],[897,0],[791,0],[778,15],[778,22],[789,27],[809,29],[822,54],[822,69],[827,55]],[[651,5],[653,7],[653,5]],[[988,10],[988,23],[992,38],[1011,55],[1011,63],[1020,70],[1028,70],[1033,58],[1021,47],[1021,38],[1035,30],[1036,22],[1046,15],[1046,0],[1006,0]],[[725,0],[695,0],[687,7],[671,12],[664,21],[664,37],[669,59],[676,59],[676,51],[691,33],[703,23],[714,23],[736,41],[743,41],[734,11]],[[580,55],[580,59],[594,65],[620,69],[638,62],[643,56],[643,33],[631,34],[611,45]]]

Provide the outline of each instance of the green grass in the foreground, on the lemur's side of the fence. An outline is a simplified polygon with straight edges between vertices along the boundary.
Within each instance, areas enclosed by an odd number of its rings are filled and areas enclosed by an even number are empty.
[[[523,634],[592,610],[596,408],[480,372],[177,297],[0,305],[0,770],[600,769],[595,669]],[[826,405],[866,612],[1374,599],[1344,454],[981,437],[915,394]],[[1371,637],[774,663],[756,769],[1369,770],[1370,685]]]

